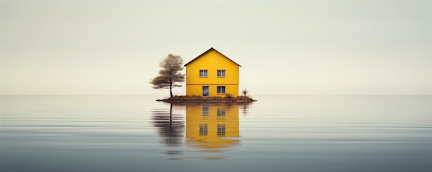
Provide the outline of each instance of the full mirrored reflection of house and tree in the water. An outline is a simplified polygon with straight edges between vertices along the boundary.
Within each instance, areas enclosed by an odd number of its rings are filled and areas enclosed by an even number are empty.
[[[153,126],[157,128],[161,144],[186,146],[186,153],[172,149],[164,153],[219,160],[229,157],[240,145],[239,108],[246,115],[248,105],[183,103],[169,106],[169,111],[153,110]]]

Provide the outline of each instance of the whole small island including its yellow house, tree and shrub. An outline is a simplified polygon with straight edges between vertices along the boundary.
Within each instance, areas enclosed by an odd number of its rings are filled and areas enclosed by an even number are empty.
[[[170,97],[159,102],[227,102],[251,103],[256,100],[244,88],[239,95],[239,64],[221,52],[210,48],[183,64],[178,55],[169,54],[159,66],[159,75],[150,80],[155,89],[169,89]],[[186,67],[186,74],[180,73]],[[185,79],[186,77],[186,79]],[[173,87],[186,80],[186,95],[173,96]],[[238,95],[238,96],[237,96]]]

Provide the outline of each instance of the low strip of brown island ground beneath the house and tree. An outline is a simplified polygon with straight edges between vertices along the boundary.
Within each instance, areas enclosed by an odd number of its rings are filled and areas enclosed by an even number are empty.
[[[239,95],[237,97],[233,96],[208,96],[202,97],[198,95],[175,95],[173,97],[169,97],[166,99],[157,99],[158,102],[168,102],[168,103],[180,103],[180,102],[233,102],[233,103],[251,103],[256,102],[257,100],[253,99],[250,96]]]

